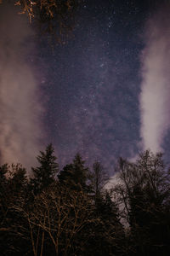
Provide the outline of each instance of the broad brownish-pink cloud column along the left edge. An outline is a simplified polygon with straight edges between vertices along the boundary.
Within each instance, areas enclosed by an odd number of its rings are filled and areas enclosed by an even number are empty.
[[[0,8],[1,163],[31,166],[42,137],[38,84],[26,57],[33,50],[29,22],[13,5]]]

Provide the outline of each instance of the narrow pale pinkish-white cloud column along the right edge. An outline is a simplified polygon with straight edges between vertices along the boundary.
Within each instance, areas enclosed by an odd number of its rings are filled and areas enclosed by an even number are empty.
[[[170,5],[159,9],[146,24],[140,94],[143,148],[162,151],[170,128]]]

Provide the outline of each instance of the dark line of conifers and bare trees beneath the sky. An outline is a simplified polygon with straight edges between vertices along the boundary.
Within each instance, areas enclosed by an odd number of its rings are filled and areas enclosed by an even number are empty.
[[[50,144],[31,177],[0,167],[0,254],[170,255],[170,172],[149,151],[120,159],[114,185],[80,154],[59,171]]]

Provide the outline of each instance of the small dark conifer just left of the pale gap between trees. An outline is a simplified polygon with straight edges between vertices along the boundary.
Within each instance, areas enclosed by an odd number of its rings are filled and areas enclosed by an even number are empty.
[[[110,191],[103,192],[96,201],[92,219],[94,222],[87,230],[88,251],[84,255],[125,255],[124,230]]]

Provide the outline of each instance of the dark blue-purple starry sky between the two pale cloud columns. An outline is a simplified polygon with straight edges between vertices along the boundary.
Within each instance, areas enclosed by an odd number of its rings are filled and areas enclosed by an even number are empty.
[[[153,3],[84,1],[69,40],[53,47],[31,25],[34,46],[24,58],[42,108],[39,150],[53,143],[60,167],[79,152],[87,164],[99,160],[112,174],[119,156],[132,159],[143,150],[141,70]]]

